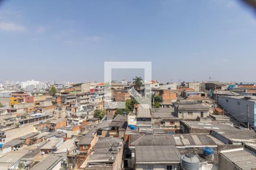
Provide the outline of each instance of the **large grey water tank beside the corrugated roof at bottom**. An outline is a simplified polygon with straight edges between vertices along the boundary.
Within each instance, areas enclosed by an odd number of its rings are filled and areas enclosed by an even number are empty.
[[[181,169],[184,170],[198,170],[200,160],[193,154],[185,154],[181,156]]]

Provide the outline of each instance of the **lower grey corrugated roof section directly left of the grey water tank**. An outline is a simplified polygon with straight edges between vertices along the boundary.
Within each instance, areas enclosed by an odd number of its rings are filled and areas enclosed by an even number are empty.
[[[135,146],[136,164],[179,163],[180,152],[175,146]]]

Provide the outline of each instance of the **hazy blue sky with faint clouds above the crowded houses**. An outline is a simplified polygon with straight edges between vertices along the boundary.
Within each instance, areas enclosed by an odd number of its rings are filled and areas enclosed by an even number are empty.
[[[104,61],[151,61],[161,82],[255,82],[255,16],[235,0],[5,1],[0,80],[103,80]]]

